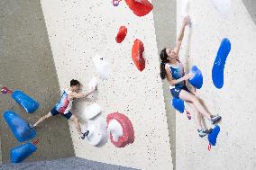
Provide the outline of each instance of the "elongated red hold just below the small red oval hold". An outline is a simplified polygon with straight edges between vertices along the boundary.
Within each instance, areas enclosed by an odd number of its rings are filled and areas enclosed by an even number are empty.
[[[145,59],[142,54],[144,51],[144,46],[141,40],[134,40],[132,49],[132,58],[136,67],[142,71],[145,68]]]

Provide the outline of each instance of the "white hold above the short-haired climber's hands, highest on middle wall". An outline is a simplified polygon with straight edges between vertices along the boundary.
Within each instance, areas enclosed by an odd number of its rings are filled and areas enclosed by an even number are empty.
[[[100,57],[99,55],[96,55],[93,58],[93,61],[96,66],[96,71],[100,78],[107,79],[111,74],[111,68],[108,64],[108,62],[105,60],[105,58]]]

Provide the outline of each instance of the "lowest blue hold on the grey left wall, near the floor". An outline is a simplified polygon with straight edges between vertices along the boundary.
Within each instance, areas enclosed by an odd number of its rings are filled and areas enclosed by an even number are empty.
[[[36,151],[36,146],[32,143],[25,143],[19,147],[12,148],[11,150],[11,162],[12,163],[20,163],[25,158],[30,157],[33,152]]]

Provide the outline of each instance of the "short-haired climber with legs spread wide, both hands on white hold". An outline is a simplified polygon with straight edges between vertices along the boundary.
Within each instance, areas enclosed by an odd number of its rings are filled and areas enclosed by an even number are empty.
[[[71,110],[72,103],[73,103],[74,99],[86,98],[89,94],[94,93],[96,91],[96,88],[92,89],[92,91],[89,92],[88,94],[78,94],[79,86],[80,86],[80,83],[78,82],[78,80],[72,79],[70,81],[70,87],[63,91],[63,93],[60,97],[59,103],[57,103],[51,109],[51,111],[49,113],[42,116],[38,121],[36,121],[36,123],[34,123],[33,125],[30,124],[30,127],[36,128],[37,125],[39,123],[41,123],[42,121],[50,118],[51,116],[56,116],[56,115],[60,114],[60,115],[64,116],[65,118],[67,118],[67,120],[74,121],[76,124],[76,129],[78,130],[78,133],[79,133],[81,139],[85,139],[87,137],[87,135],[89,134],[89,130],[82,133],[78,117],[73,115],[70,112],[70,110]]]

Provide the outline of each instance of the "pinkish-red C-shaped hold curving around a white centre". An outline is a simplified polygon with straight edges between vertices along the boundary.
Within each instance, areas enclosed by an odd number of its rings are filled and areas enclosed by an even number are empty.
[[[111,139],[111,142],[114,144],[114,146],[117,148],[123,148],[126,145],[133,143],[135,139],[134,130],[133,130],[133,124],[129,120],[129,118],[123,115],[122,113],[114,112],[114,113],[108,114],[106,117],[107,124],[109,124],[110,121],[112,120],[118,121],[123,129],[123,136],[121,136],[117,141],[114,141],[112,133],[110,133],[110,139]]]

